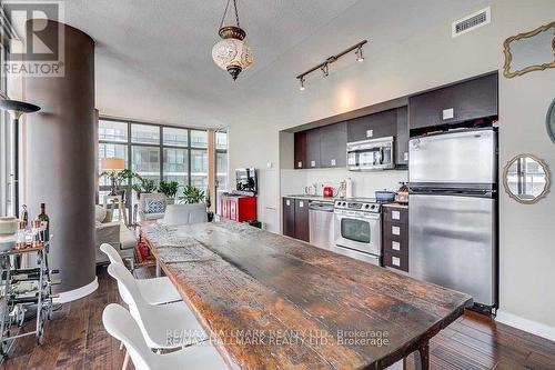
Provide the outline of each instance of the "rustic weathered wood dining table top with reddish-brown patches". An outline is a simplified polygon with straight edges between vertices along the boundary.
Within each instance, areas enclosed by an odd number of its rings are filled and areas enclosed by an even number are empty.
[[[381,369],[472,303],[244,223],[153,224],[142,236],[234,369]]]

